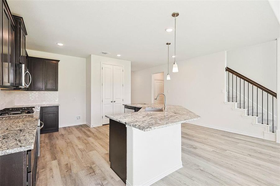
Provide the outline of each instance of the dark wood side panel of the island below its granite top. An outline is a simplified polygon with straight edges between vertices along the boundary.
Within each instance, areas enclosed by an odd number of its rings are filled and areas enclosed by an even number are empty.
[[[111,169],[126,183],[126,125],[110,119],[109,161]]]

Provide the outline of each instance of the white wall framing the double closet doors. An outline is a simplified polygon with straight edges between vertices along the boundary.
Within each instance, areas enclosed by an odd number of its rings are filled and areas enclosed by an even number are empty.
[[[101,118],[101,64],[123,65],[124,79],[123,79],[123,103],[131,102],[131,62],[126,60],[119,60],[99,55],[91,55],[91,122],[90,126],[100,126]],[[88,58],[87,58],[88,59]],[[87,72],[89,73],[89,72]],[[89,74],[87,74],[89,77]],[[89,111],[86,111],[89,113]]]

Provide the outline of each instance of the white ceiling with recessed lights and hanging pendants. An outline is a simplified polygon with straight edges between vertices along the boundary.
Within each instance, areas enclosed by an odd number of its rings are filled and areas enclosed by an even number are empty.
[[[174,51],[172,12],[177,18],[177,61],[271,41],[279,24],[268,1],[11,1],[24,18],[31,50],[131,61],[132,71],[167,63]],[[56,45],[64,43],[63,47]],[[117,57],[121,54],[121,57]],[[172,58],[170,58],[172,59]]]

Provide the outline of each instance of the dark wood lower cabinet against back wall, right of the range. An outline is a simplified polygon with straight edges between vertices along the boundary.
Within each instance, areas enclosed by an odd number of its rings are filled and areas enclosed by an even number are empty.
[[[41,107],[40,121],[44,123],[41,134],[58,131],[58,106]]]

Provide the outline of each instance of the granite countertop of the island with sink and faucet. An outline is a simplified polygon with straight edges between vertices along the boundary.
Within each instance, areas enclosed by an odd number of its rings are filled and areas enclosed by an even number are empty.
[[[141,109],[138,112],[106,115],[106,117],[141,131],[151,131],[200,119],[199,115],[178,105],[167,105],[166,110],[164,110],[163,104],[137,103],[123,105]],[[163,108],[163,112],[147,112],[145,111],[146,108]]]

